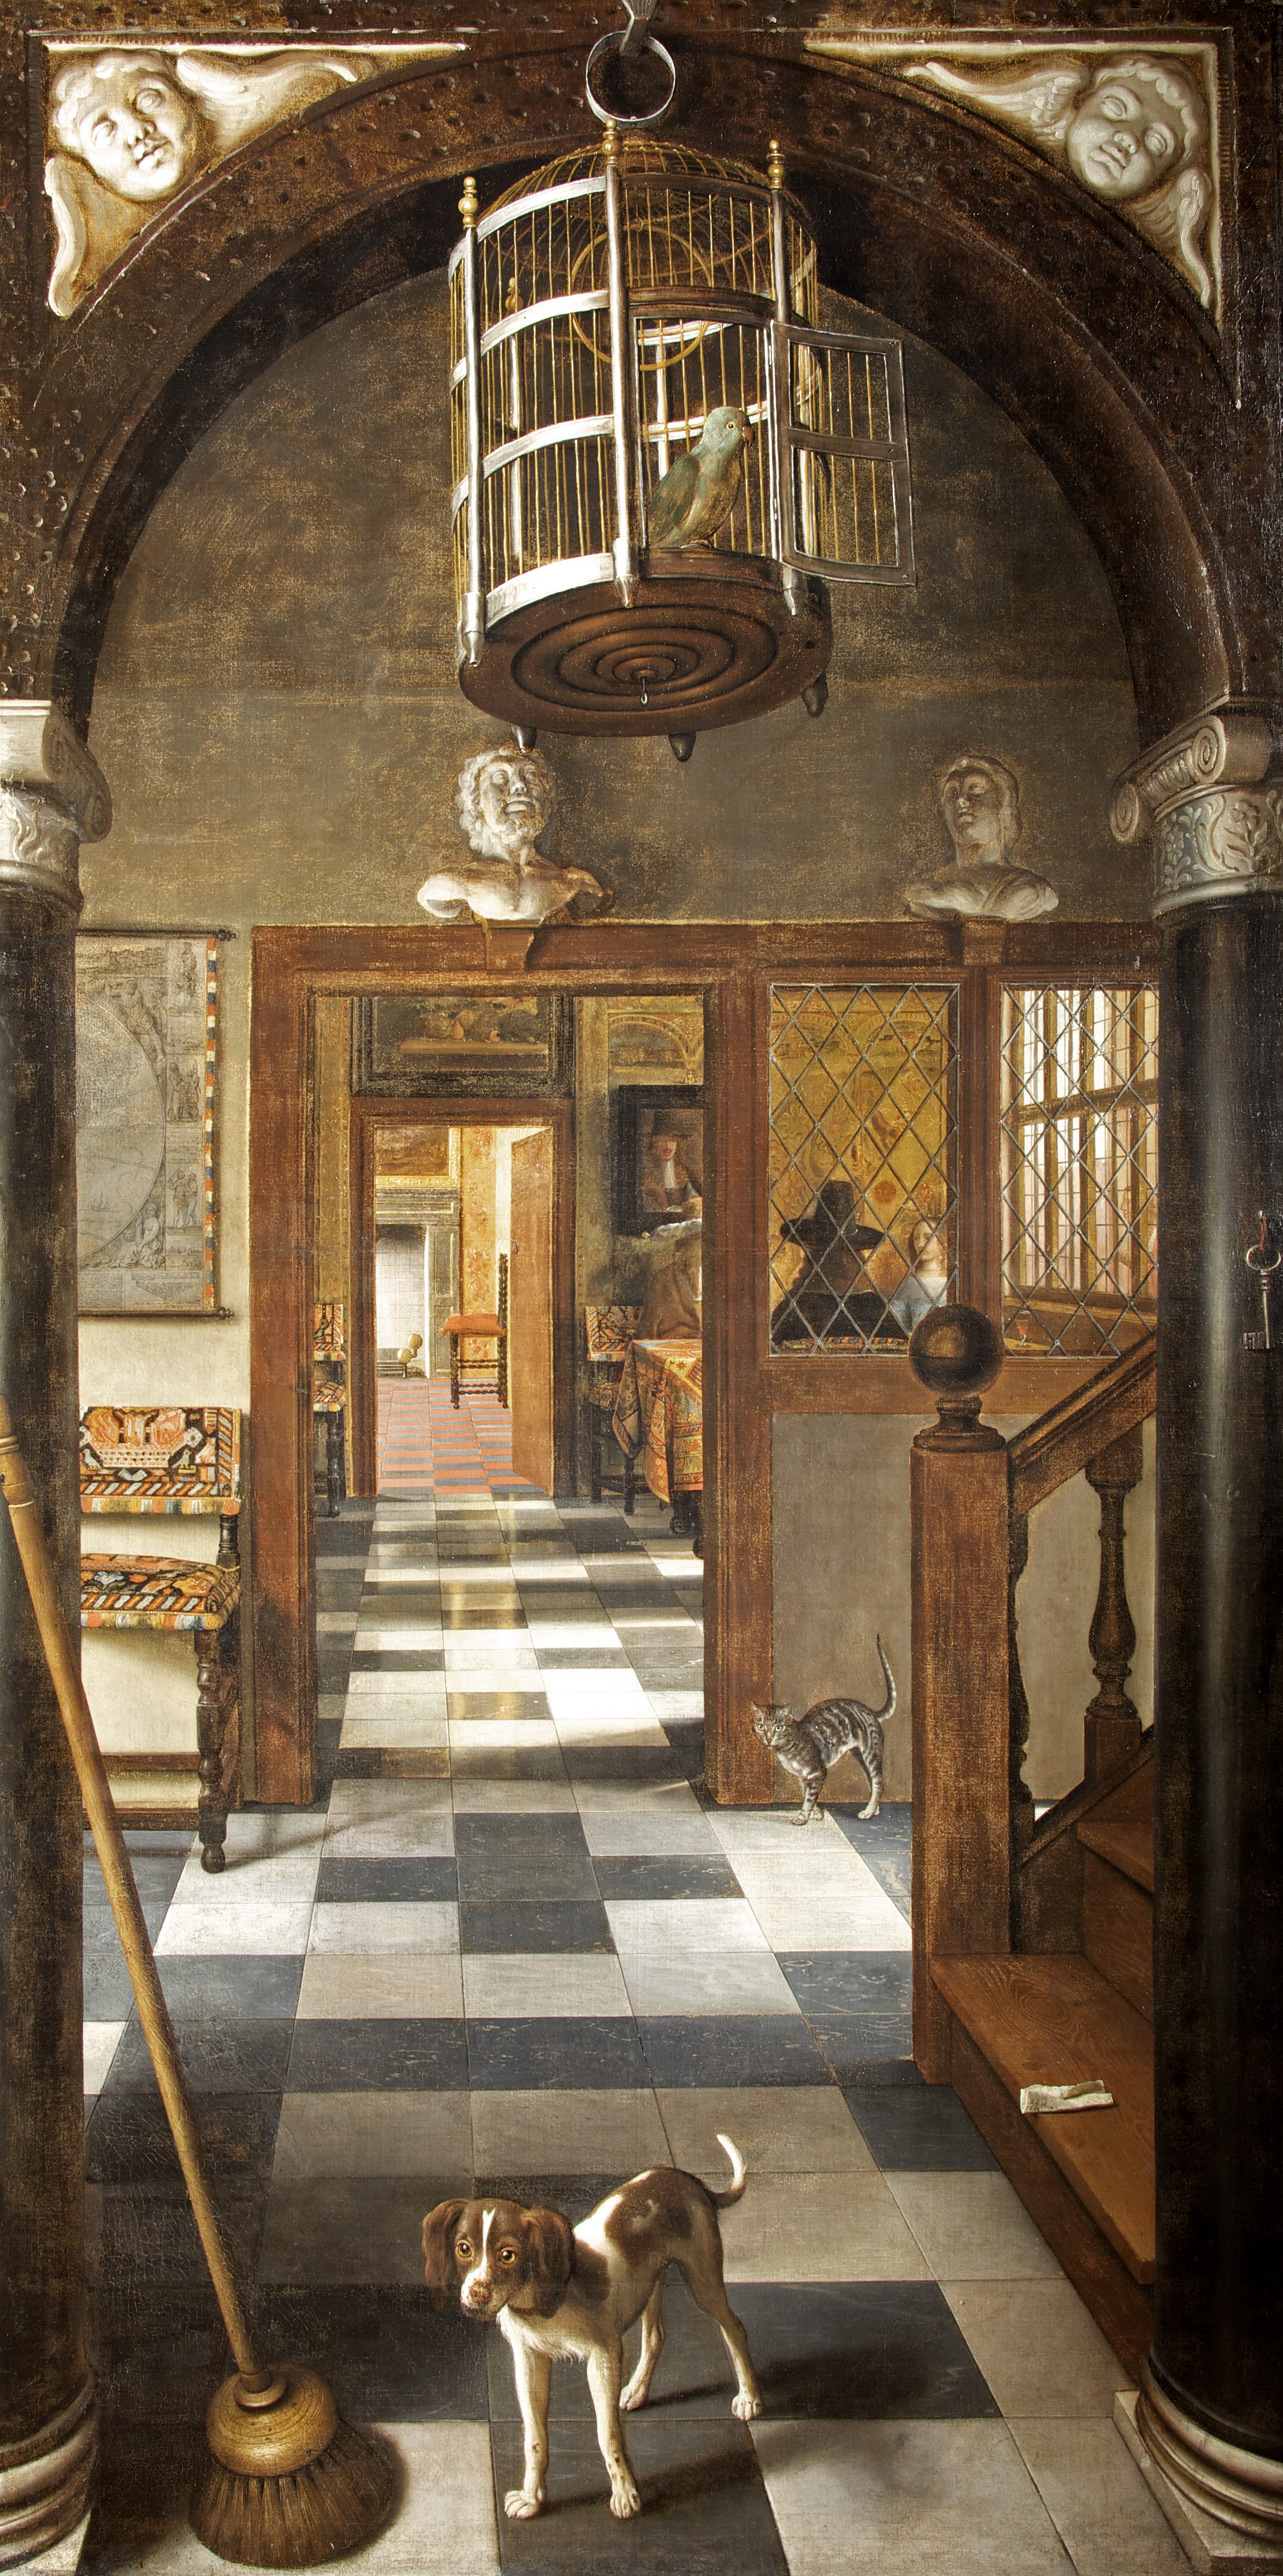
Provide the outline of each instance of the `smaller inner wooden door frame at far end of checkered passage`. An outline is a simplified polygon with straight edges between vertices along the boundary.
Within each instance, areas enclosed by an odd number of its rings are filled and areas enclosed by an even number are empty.
[[[551,1388],[554,1492],[575,1473],[575,1100],[407,1100],[353,1097],[350,1105],[350,1280],[348,1401],[353,1406],[353,1494],[376,1489],[374,1350],[374,1128],[381,1126],[546,1126],[551,1128]]]

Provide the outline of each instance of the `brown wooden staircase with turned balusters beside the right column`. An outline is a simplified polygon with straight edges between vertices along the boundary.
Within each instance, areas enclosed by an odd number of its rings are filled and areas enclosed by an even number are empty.
[[[1152,2342],[1154,2280],[1154,1734],[1123,1690],[1136,1633],[1121,1504],[1141,1473],[1152,1388],[1146,1345],[1010,1445],[989,1432],[969,1458],[953,1427],[948,1448],[915,1453],[915,2056],[927,2081],[953,2081],[1131,2370]],[[1033,1819],[1015,1584],[1028,1510],[1061,1468],[1085,1471],[1103,1497],[1090,1631],[1100,1690],[1085,1713],[1085,1780]],[[1002,1486],[1007,1548],[994,1569],[994,1548],[974,1538],[976,1517],[992,1535]],[[940,1618],[925,1569],[940,1566],[948,1533]],[[1085,2079],[1110,2089],[1110,2110],[1020,2112],[1023,2084]]]

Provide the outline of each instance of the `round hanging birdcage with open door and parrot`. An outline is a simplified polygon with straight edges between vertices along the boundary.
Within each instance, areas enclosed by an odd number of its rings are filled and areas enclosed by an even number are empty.
[[[464,696],[680,757],[794,696],[819,714],[827,582],[915,580],[904,379],[897,340],[817,327],[778,147],[763,180],[608,121],[461,214]]]

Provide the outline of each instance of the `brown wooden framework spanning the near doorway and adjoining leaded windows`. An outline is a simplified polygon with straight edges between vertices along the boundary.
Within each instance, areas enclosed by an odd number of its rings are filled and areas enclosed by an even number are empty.
[[[969,1247],[966,1303],[1000,1316],[997,984],[1002,976],[1149,971],[1146,922],[605,922],[556,925],[531,945],[531,992],[580,997],[703,994],[703,1133],[714,1182],[703,1206],[703,1767],[724,1806],[773,1795],[768,1749],[750,1728],[770,1690],[773,1414],[922,1414],[907,1358],[770,1352],[770,984],[951,979],[958,1048],[982,1069],[974,1133],[958,1133]],[[309,1803],[317,1739],[312,1638],[312,1015],[322,994],[487,989],[482,930],[255,930],[250,1018],[250,1592],[255,1631],[258,1795]],[[513,981],[510,974],[502,976]],[[549,1103],[531,1103],[544,1118]],[[1095,1376],[1095,1360],[1020,1360],[1002,1370],[1002,1412],[1041,1414]]]

